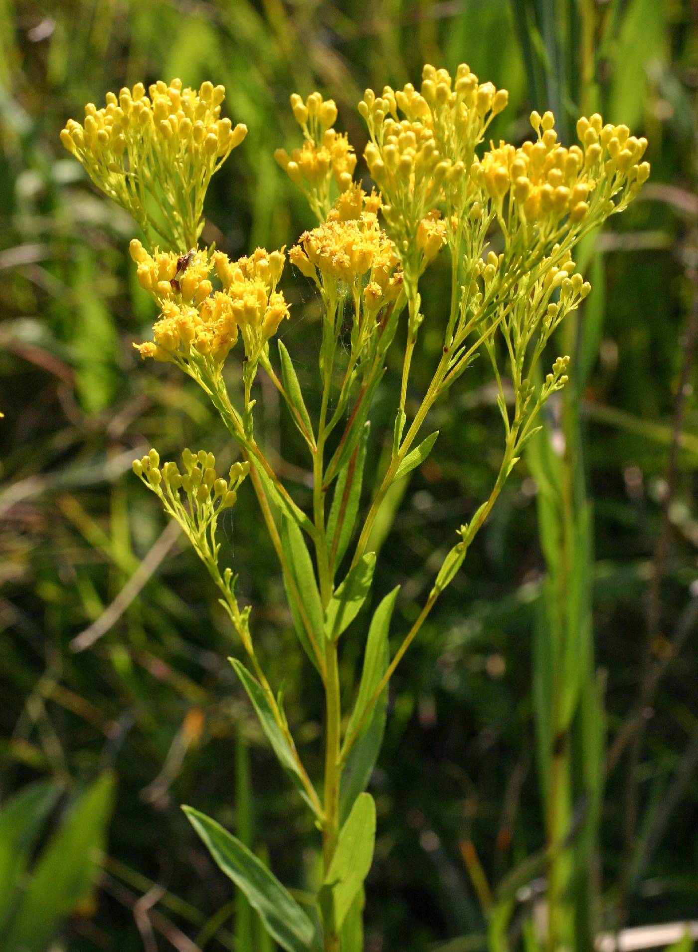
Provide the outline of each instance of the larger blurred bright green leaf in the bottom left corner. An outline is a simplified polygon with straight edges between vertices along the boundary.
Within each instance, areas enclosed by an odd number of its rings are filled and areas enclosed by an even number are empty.
[[[44,952],[60,922],[89,895],[107,838],[114,778],[99,777],[41,853],[3,952]]]

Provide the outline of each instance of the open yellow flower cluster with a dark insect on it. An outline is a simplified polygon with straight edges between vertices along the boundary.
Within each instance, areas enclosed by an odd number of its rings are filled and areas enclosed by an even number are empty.
[[[216,251],[210,260],[204,252],[191,252],[189,267],[195,268],[195,277],[190,284],[185,282],[189,268],[175,271],[174,277],[168,279],[172,263],[167,255],[155,253],[151,257],[143,248],[134,248],[133,243],[131,255],[136,261],[141,259],[139,281],[161,307],[152,328],[153,341],[135,345],[142,357],[176,363],[188,361],[193,350],[220,365],[240,333],[246,357],[256,362],[269,337],[289,317],[284,295],[276,290],[284,268],[283,251],[269,253],[265,248],[257,248],[249,258],[236,262],[230,262],[221,251]],[[197,259],[197,255],[201,258]],[[215,269],[222,290],[211,292],[207,277],[211,268]],[[154,288],[150,287],[153,284]]]

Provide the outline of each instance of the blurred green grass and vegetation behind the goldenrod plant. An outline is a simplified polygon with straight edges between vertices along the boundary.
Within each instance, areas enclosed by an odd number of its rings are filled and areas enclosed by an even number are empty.
[[[289,92],[331,95],[360,153],[355,104],[365,86],[416,83],[425,61],[454,69],[465,60],[509,89],[495,139],[519,141],[528,110],[551,106],[563,128],[599,108],[650,142],[643,200],[584,249],[586,261],[578,255],[594,288],[575,400],[608,734],[593,871],[606,928],[698,918],[698,402],[687,361],[698,267],[695,20],[680,0],[0,0],[0,798],[49,781],[49,827],[65,830],[66,800],[105,770],[116,779],[98,886],[89,901],[76,890],[56,948],[231,947],[229,883],[179,803],[264,843],[283,880],[301,889],[316,859],[313,830],[233,681],[227,618],[130,475],[131,459],[153,443],[165,455],[205,446],[224,465],[230,447],[193,387],[133,351],[154,317],[128,259],[133,227],[90,187],[58,132],[85,102],[137,80],[224,83],[225,108],[249,135],[213,180],[204,240],[230,254],[279,247],[310,224],[272,158],[296,140]],[[443,311],[439,278],[435,270],[433,294],[423,293],[415,392],[438,347],[429,320]],[[284,342],[304,384],[317,308],[305,279],[289,269],[286,282],[294,317]],[[436,407],[441,435],[429,464],[378,526],[376,598],[401,584],[396,613],[406,622],[496,472],[498,411],[486,380],[474,366]],[[398,386],[389,374],[374,434],[390,430]],[[273,388],[260,396],[258,439],[289,461],[284,475],[303,501],[309,474],[296,465],[294,432]],[[548,431],[559,437],[555,414]],[[369,476],[382,450],[374,437]],[[546,570],[538,488],[526,466],[509,481],[391,684],[371,785],[379,822],[367,952],[483,947],[483,907],[507,894],[515,869],[514,947],[540,901],[545,866],[521,870],[546,842],[532,691]],[[318,774],[321,697],[295,651],[251,506],[235,509],[225,537],[270,680],[285,681],[289,722],[307,724],[297,740]],[[91,644],[76,652],[86,631]],[[346,645],[347,675],[362,648]],[[572,810],[583,818],[587,806]],[[42,826],[39,843],[47,836]],[[20,880],[26,897],[35,882]]]

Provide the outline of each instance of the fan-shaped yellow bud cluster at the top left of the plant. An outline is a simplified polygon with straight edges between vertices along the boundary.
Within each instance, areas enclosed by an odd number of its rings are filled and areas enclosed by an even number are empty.
[[[221,119],[223,86],[183,89],[158,80],[108,92],[106,106],[85,107],[83,124],[69,119],[61,142],[92,182],[125,208],[147,235],[154,228],[181,251],[196,243],[211,175],[239,146],[247,127]],[[150,217],[150,195],[160,216]]]

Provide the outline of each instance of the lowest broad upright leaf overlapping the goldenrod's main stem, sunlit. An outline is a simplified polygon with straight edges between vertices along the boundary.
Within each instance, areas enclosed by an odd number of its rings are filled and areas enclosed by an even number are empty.
[[[369,875],[375,843],[375,803],[362,793],[351,807],[339,833],[337,848],[325,877],[334,905],[334,923],[340,929],[352,902]]]

